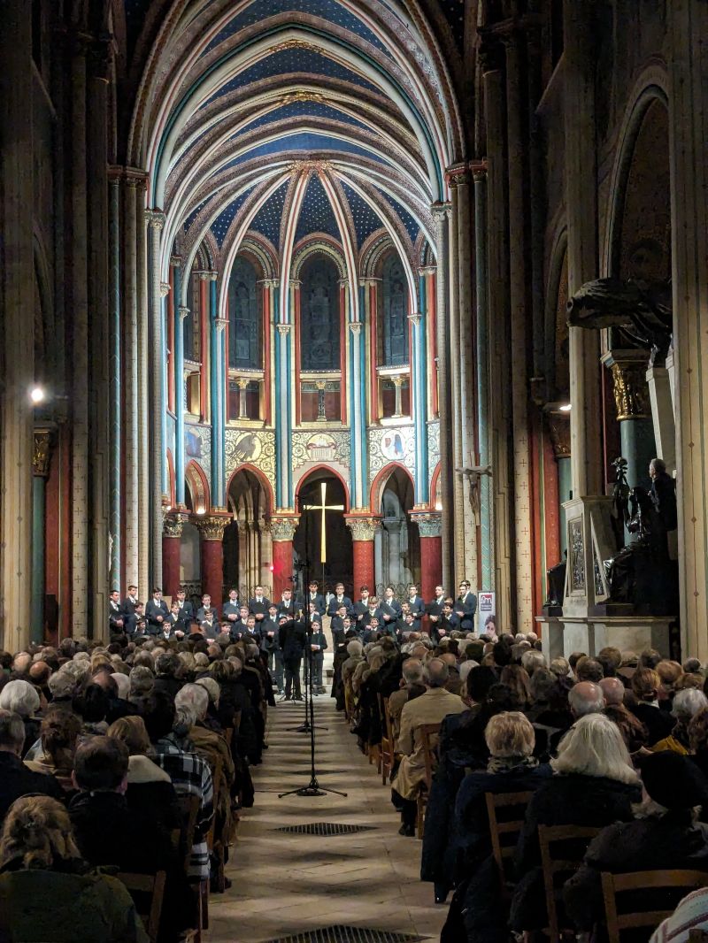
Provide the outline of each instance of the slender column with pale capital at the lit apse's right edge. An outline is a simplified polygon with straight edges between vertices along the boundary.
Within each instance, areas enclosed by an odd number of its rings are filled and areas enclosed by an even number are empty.
[[[450,422],[450,385],[449,364],[449,319],[448,319],[448,222],[450,207],[447,203],[437,203],[431,207],[435,219],[437,273],[435,284],[437,353],[438,353],[438,411],[440,415],[440,494],[442,499],[442,547],[443,578],[446,586],[452,586],[454,579],[454,493],[452,482],[452,426]]]

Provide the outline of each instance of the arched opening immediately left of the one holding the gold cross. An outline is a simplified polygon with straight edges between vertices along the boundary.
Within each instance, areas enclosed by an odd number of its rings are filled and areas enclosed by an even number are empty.
[[[264,542],[263,526],[268,500],[261,481],[254,472],[236,472],[228,486],[228,509],[233,518],[224,531],[224,584],[238,587],[241,599],[253,595],[261,585],[270,592],[270,554]]]

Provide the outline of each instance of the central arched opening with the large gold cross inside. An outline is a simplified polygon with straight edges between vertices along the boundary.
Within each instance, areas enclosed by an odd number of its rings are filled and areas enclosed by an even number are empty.
[[[351,532],[345,521],[348,505],[342,481],[327,469],[315,469],[298,488],[298,495],[300,523],[293,539],[295,565],[308,560],[310,578],[319,582],[323,592],[327,587],[333,591],[336,583],[344,583],[351,598],[354,559]],[[307,505],[315,509],[303,510]],[[323,505],[328,508],[324,511],[325,560],[322,559]]]

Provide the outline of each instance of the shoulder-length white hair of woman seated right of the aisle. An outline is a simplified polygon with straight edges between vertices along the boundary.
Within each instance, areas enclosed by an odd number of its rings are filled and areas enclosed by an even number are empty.
[[[558,747],[550,766],[557,773],[604,776],[619,783],[635,784],[639,777],[617,725],[604,714],[588,714],[576,720]]]

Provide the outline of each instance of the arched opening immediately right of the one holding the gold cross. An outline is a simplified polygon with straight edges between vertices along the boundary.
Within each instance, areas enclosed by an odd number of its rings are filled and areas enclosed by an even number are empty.
[[[396,596],[405,598],[409,584],[420,580],[420,535],[410,518],[414,504],[411,476],[394,469],[380,494],[382,527],[374,548],[377,593],[391,584]]]

